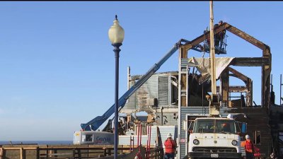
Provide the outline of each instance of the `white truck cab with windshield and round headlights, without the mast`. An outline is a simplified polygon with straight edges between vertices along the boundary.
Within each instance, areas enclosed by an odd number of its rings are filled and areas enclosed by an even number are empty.
[[[187,157],[241,158],[241,126],[246,124],[229,118],[195,119],[190,131]]]

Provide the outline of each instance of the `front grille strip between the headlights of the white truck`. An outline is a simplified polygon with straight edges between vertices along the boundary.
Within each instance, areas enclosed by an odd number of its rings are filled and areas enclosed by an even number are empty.
[[[226,148],[226,147],[195,147],[192,148],[193,152],[202,153],[237,153],[236,148]]]

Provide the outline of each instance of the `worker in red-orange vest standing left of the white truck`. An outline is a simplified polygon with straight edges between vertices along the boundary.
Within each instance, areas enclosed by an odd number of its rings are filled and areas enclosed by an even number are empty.
[[[173,159],[173,158],[175,158],[175,148],[176,148],[177,144],[172,139],[172,134],[171,133],[169,133],[167,135],[167,139],[164,142],[164,146],[165,146],[164,158],[165,159]]]

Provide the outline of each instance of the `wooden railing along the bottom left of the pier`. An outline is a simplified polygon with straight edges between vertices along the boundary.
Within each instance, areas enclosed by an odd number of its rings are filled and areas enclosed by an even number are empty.
[[[136,147],[136,146],[135,146]],[[113,155],[113,147],[103,146],[17,146],[0,147],[0,159],[91,159]],[[119,147],[120,158],[127,159],[129,146]],[[135,154],[134,154],[135,155]],[[144,154],[145,158],[146,155]],[[119,158],[119,156],[118,156]],[[147,158],[163,159],[163,148],[152,148]],[[133,158],[129,158],[133,159]]]

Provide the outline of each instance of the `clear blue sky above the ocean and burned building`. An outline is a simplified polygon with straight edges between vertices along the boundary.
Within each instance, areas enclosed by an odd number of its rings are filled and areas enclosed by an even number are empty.
[[[270,46],[277,104],[282,8],[282,1],[214,2],[214,23],[224,20]],[[175,42],[202,35],[209,1],[1,1],[0,141],[72,140],[81,123],[108,110],[115,93],[108,29],[115,14],[125,29],[122,95],[127,66],[132,75],[144,74]],[[261,57],[257,47],[227,35],[225,56]],[[260,104],[260,67],[242,70],[253,79],[253,99]],[[178,71],[178,52],[158,70],[163,71]]]

